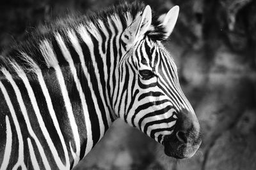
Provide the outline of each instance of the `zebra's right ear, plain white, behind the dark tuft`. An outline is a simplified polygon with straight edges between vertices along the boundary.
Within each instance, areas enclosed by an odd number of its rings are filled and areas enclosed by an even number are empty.
[[[165,28],[166,38],[168,38],[173,31],[179,15],[179,9],[179,6],[173,6],[173,8],[168,11],[168,13],[160,15],[158,18],[158,20],[162,22]]]

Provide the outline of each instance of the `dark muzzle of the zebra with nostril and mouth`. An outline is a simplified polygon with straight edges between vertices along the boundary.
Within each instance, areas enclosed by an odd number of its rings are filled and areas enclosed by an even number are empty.
[[[171,135],[164,137],[164,153],[177,159],[192,157],[202,143],[200,125],[195,113],[180,111]]]

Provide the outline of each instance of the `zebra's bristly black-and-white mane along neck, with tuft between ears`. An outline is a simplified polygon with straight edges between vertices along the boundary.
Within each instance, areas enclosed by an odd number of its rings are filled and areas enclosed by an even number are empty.
[[[51,57],[46,57],[44,52],[49,52],[49,42],[54,41],[56,34],[61,35],[64,40],[67,40],[67,34],[74,29],[79,29],[83,26],[86,31],[93,36],[100,36],[102,25],[109,29],[109,20],[118,29],[116,23],[121,24],[126,28],[131,24],[136,16],[140,15],[145,8],[145,4],[140,2],[122,3],[116,6],[106,8],[106,10],[97,11],[91,15],[72,14],[65,18],[59,18],[51,24],[45,24],[41,29],[35,29],[31,34],[28,34],[26,41],[21,41],[13,45],[9,50],[0,55],[0,69],[6,69],[10,72],[17,72],[22,68],[26,73],[35,72],[38,69],[53,67],[52,64],[64,65],[65,59],[56,60]],[[165,31],[158,16],[152,17],[152,29],[146,32],[146,35],[154,41],[163,41]],[[44,52],[42,52],[44,45]]]

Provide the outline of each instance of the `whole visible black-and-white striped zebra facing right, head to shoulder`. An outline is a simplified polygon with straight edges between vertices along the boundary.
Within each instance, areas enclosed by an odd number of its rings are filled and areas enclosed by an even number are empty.
[[[123,3],[45,25],[0,57],[0,169],[72,169],[116,118],[192,157],[202,137],[163,41],[160,17]]]

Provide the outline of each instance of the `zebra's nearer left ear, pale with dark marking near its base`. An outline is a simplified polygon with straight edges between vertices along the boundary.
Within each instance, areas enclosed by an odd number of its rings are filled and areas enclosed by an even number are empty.
[[[148,31],[151,22],[152,11],[150,6],[147,5],[143,10],[143,13],[136,17],[132,21],[132,24],[125,29],[121,37],[122,41],[124,41],[128,47],[131,47],[134,42],[141,38],[141,36],[144,36]]]

